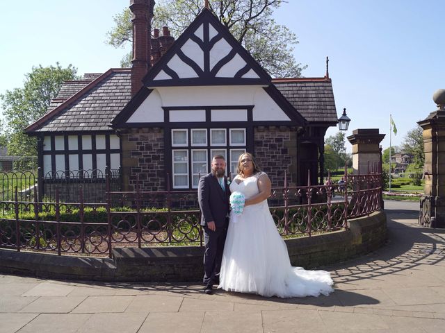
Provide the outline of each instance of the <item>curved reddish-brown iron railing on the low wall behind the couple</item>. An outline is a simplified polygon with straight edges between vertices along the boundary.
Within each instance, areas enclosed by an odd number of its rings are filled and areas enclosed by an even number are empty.
[[[381,173],[351,176],[345,184],[273,188],[270,212],[283,237],[348,228],[348,219],[382,207]],[[113,191],[106,178],[104,203],[78,200],[1,200],[0,248],[76,255],[108,255],[113,247],[203,244],[197,191]],[[37,189],[34,189],[37,191]],[[35,194],[33,198],[37,198]],[[118,203],[114,205],[113,203]]]

